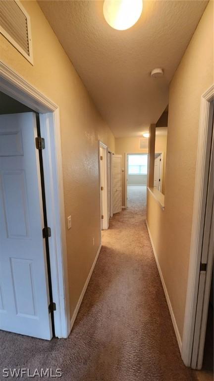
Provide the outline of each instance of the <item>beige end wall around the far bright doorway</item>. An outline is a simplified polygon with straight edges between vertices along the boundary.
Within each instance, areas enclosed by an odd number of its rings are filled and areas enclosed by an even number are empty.
[[[166,146],[165,136],[157,135],[156,138],[156,152],[164,152]],[[125,205],[125,152],[126,153],[148,153],[148,143],[149,139],[144,140],[144,148],[139,149],[139,137],[118,137],[115,138],[115,153],[117,155],[122,155],[122,205]],[[164,172],[163,172],[164,173]],[[164,175],[163,175],[164,176]],[[164,187],[164,186],[163,186]],[[163,188],[164,189],[164,188]]]

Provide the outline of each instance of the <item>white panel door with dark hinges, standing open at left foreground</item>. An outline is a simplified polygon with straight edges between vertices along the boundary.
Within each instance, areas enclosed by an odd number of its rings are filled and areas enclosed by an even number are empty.
[[[34,113],[0,115],[0,329],[50,340]]]

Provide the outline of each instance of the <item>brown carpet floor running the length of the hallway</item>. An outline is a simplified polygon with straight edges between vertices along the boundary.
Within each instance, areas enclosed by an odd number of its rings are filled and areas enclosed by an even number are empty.
[[[102,234],[69,338],[48,342],[0,331],[1,374],[61,368],[63,381],[197,380],[180,357],[145,217],[146,187],[129,187],[128,208]]]

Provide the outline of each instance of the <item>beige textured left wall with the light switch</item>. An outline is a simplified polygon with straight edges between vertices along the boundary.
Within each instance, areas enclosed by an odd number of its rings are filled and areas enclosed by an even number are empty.
[[[98,140],[114,151],[114,137],[96,111],[36,1],[23,1],[31,17],[34,66],[0,35],[0,60],[53,100],[60,111],[71,315],[100,245]],[[95,246],[92,246],[92,238]]]

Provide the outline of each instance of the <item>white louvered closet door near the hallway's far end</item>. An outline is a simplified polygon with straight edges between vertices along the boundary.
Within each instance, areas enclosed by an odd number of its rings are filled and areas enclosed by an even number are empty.
[[[113,213],[122,210],[122,156],[112,155],[113,169]]]

